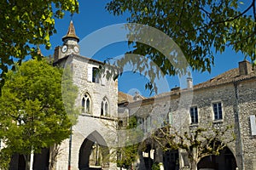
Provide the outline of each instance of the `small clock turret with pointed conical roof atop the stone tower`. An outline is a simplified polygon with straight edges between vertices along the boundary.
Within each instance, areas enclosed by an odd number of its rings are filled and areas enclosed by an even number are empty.
[[[58,46],[55,48],[55,61],[61,59],[69,54],[79,54],[79,37],[77,37],[73,20],[70,21],[67,35],[62,37],[62,46]]]

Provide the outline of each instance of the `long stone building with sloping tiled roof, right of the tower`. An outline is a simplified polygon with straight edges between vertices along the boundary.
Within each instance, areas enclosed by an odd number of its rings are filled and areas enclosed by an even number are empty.
[[[246,60],[239,62],[238,68],[207,82],[192,86],[192,79],[188,78],[187,88],[173,88],[170,93],[119,105],[137,116],[146,138],[161,122],[172,123],[180,133],[196,127],[210,130],[232,125],[230,132],[219,140],[232,138],[231,133],[235,133],[236,140],[220,151],[219,156],[202,158],[198,168],[256,169],[256,71]],[[189,169],[183,150],[163,152],[158,144],[148,144],[140,161],[144,164],[141,169],[150,169],[153,162],[161,163],[164,169]]]

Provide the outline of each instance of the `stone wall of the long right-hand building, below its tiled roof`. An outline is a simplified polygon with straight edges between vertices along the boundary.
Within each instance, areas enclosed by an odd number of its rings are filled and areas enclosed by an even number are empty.
[[[237,84],[237,86],[236,86]],[[212,126],[224,128],[232,125],[221,141],[233,138],[236,141],[228,144],[228,148],[236,157],[238,169],[255,170],[256,138],[251,135],[249,116],[256,114],[256,80],[241,80],[208,88],[196,88],[191,91],[183,89],[169,94],[161,94],[151,99],[131,103],[127,107],[131,115],[143,117],[141,127],[147,128],[147,117],[151,117],[151,131],[145,130],[145,138],[150,136],[163,120],[172,113],[173,126],[184,133],[194,127]],[[214,120],[212,104],[221,102],[223,119]],[[191,124],[189,108],[197,106],[199,122]],[[167,118],[168,119],[168,118]],[[156,123],[157,122],[157,123]],[[157,125],[157,126],[156,126]]]

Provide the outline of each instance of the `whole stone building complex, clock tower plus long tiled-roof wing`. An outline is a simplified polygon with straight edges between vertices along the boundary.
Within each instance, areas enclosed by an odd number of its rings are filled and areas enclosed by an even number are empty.
[[[133,97],[118,91],[117,80],[107,79],[104,72],[98,74],[104,65],[101,61],[79,54],[79,37],[72,21],[62,41],[55,48],[54,65],[73,72],[73,82],[79,88],[76,105],[81,113],[70,139],[60,145],[54,160],[56,170],[117,169],[116,158],[109,156],[113,146],[125,140],[118,131],[125,129],[131,115],[139,118],[144,139],[164,122],[172,123],[181,132],[195,127],[233,125],[231,131],[236,140],[220,156],[203,158],[199,169],[256,170],[256,71],[249,62],[242,61],[238,68],[195,86],[188,78],[187,88],[173,88],[150,98],[139,94]],[[230,134],[224,137],[229,138]],[[153,162],[161,163],[165,170],[189,168],[183,150],[164,152],[157,144],[149,144],[140,154],[138,169],[151,169]],[[43,155],[49,161],[44,161],[44,167],[42,161],[34,162],[34,169],[47,169],[53,161],[50,158],[54,148]],[[22,169],[22,162],[17,164]]]

